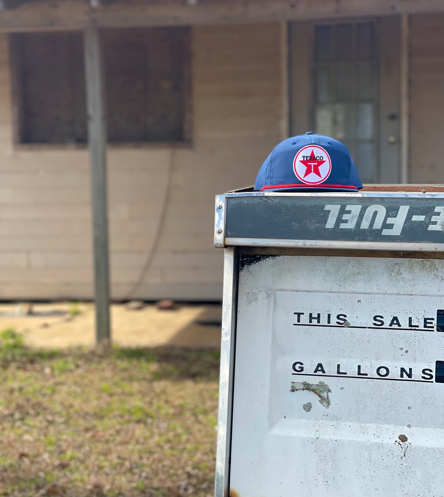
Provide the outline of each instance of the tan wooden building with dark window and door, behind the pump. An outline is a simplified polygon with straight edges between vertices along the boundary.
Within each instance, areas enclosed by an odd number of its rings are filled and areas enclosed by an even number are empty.
[[[444,182],[441,0],[1,0],[0,299],[93,296],[84,40],[113,299],[220,300],[214,196],[307,130],[364,182]],[[87,80],[87,78],[86,78]]]

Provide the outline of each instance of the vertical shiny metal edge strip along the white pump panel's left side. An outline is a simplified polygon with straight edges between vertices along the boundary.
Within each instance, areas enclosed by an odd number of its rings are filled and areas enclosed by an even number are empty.
[[[229,495],[238,276],[237,247],[225,248],[215,497],[228,497]]]

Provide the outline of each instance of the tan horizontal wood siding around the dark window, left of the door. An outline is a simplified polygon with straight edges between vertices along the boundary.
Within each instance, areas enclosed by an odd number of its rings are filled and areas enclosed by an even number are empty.
[[[110,148],[112,297],[138,278],[172,168],[152,265],[134,298],[222,299],[214,197],[251,184],[280,141],[278,23],[192,29],[193,144]],[[89,156],[14,149],[6,35],[0,35],[0,299],[92,297]]]

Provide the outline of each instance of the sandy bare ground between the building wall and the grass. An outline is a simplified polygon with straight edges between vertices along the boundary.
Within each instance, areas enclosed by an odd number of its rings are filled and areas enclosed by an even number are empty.
[[[92,346],[94,306],[91,303],[0,304],[0,331],[13,328],[23,333],[27,345],[44,348]],[[124,347],[179,346],[217,348],[221,343],[222,306],[177,304],[157,310],[147,304],[129,310],[125,304],[111,307],[112,341]]]

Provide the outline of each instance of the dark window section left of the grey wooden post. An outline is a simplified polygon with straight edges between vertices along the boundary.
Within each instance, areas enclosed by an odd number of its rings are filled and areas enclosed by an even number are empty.
[[[27,33],[17,44],[21,95],[20,141],[86,142],[85,85],[80,33]]]

